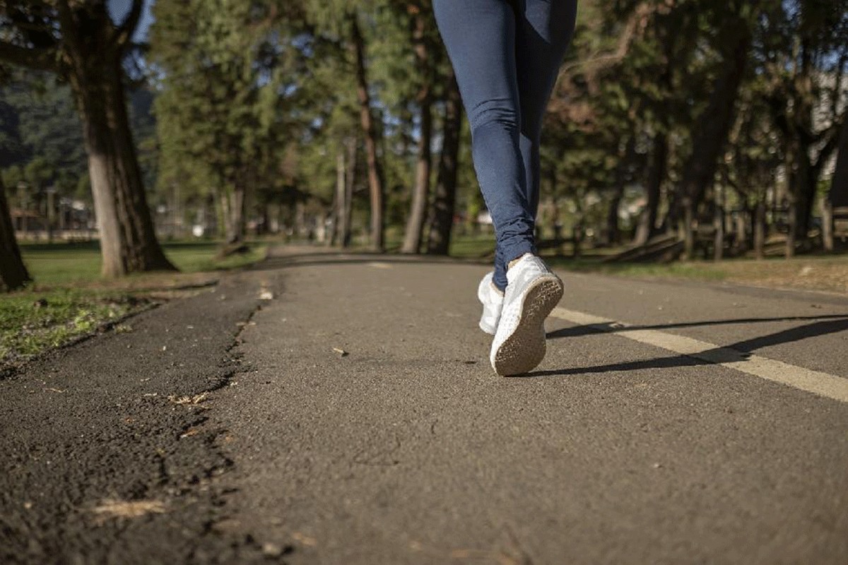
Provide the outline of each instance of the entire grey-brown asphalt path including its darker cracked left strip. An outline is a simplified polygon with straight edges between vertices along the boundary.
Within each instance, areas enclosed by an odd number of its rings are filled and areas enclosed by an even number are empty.
[[[0,381],[0,558],[848,562],[848,297],[568,274],[504,379],[486,270],[278,250]]]

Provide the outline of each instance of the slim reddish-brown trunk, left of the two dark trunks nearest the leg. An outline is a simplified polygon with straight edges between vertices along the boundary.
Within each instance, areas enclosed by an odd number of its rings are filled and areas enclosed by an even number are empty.
[[[356,95],[360,102],[360,122],[365,134],[365,159],[368,163],[368,186],[371,191],[371,248],[382,252],[383,241],[383,186],[380,159],[377,155],[377,126],[371,115],[371,95],[368,92],[368,76],[365,69],[365,41],[360,32],[360,23],[355,11],[349,12],[351,49],[356,67]]]

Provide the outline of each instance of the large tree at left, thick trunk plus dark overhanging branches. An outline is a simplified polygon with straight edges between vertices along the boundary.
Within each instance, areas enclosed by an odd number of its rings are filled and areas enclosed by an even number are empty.
[[[115,25],[104,0],[0,3],[0,59],[53,72],[74,92],[107,277],[174,269],[156,241],[122,81],[142,4]]]

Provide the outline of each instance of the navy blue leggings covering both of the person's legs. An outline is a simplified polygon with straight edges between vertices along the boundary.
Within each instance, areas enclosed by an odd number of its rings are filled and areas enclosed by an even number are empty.
[[[433,10],[471,124],[503,291],[506,265],[536,252],[539,135],[577,0],[433,0]]]

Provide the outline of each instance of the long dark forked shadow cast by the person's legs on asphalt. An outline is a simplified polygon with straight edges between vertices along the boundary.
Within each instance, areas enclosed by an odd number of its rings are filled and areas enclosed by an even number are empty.
[[[784,321],[784,320],[797,320],[797,319],[808,319],[808,318],[778,318],[778,319],[747,319],[747,320],[724,320],[721,322],[707,322],[706,325],[709,324],[733,324],[739,323],[740,321],[745,323],[754,323],[754,322],[774,322],[774,321]],[[755,338],[751,338],[749,340],[737,341],[734,344],[728,346],[717,346],[712,349],[708,349],[703,352],[698,352],[694,355],[674,355],[671,357],[657,357],[656,359],[648,359],[644,361],[630,361],[626,363],[610,363],[606,365],[596,365],[594,367],[576,367],[576,368],[565,368],[565,369],[553,369],[548,371],[535,371],[532,373],[515,375],[518,378],[537,378],[537,377],[551,377],[551,376],[569,376],[576,374],[594,374],[594,373],[611,373],[618,371],[637,371],[642,369],[650,369],[650,368],[676,368],[676,367],[693,367],[697,365],[710,365],[716,363],[736,363],[739,361],[745,361],[745,359],[750,358],[750,354],[755,352],[758,349],[762,349],[763,347],[768,346],[777,346],[785,343],[792,343],[795,341],[801,341],[810,337],[817,337],[819,335],[828,335],[835,334],[840,331],[848,330],[848,314],[844,315],[831,315],[831,316],[818,316],[813,319],[817,319],[819,321],[813,324],[806,324],[796,328],[789,328],[788,330],[780,330],[778,332],[774,332],[769,335],[761,335]],[[628,326],[627,330],[634,329],[659,329],[659,328],[674,328],[674,327],[689,327],[693,325],[699,324],[668,324],[666,326]],[[589,331],[587,331],[589,329]],[[615,333],[616,330],[621,330],[621,328],[615,328],[610,326],[608,330],[603,329],[602,326],[578,326],[577,328],[570,328],[568,330],[582,330],[581,333],[576,333],[574,335],[588,335],[595,333]],[[558,337],[564,337],[565,334],[559,332]],[[697,357],[695,357],[697,355]]]

